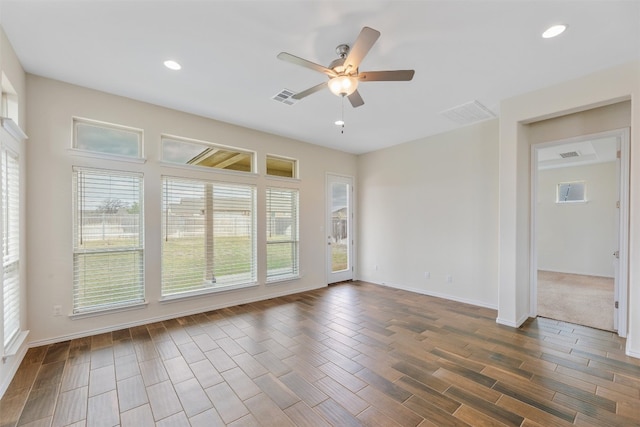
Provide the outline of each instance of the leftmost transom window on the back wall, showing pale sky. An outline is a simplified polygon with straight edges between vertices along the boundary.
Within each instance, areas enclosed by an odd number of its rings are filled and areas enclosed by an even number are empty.
[[[142,130],[74,119],[73,148],[126,157],[142,157]]]

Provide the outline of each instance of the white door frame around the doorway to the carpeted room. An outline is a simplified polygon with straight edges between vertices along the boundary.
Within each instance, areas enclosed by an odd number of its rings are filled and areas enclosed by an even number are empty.
[[[580,135],[556,141],[544,142],[531,145],[531,221],[530,221],[530,312],[531,317],[538,316],[538,252],[536,241],[536,213],[538,194],[538,149],[556,145],[563,145],[572,142],[579,142],[586,139],[599,139],[615,137],[620,150],[620,167],[618,176],[618,192],[620,208],[618,209],[618,277],[614,293],[615,301],[618,301],[618,309],[613,308],[614,325],[617,326],[617,333],[620,337],[627,336],[627,316],[628,316],[628,278],[629,278],[629,160],[630,143],[629,128],[614,129],[611,131],[598,132],[588,135]],[[615,279],[614,279],[615,280]]]

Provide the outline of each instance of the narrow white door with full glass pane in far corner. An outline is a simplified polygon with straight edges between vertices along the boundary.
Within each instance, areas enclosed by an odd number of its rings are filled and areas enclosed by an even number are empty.
[[[353,279],[353,179],[327,175],[327,283]]]

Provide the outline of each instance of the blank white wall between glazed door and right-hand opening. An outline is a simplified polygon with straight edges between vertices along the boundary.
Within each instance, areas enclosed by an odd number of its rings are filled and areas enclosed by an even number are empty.
[[[497,307],[497,166],[497,120],[361,155],[359,278]]]

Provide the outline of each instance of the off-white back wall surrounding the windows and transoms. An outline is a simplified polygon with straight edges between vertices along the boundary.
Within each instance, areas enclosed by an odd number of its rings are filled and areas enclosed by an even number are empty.
[[[28,75],[28,258],[29,316],[32,344],[73,338],[99,331],[142,324],[276,295],[314,289],[326,285],[325,268],[325,176],[327,172],[355,176],[356,157],[319,146],[217,122],[203,117],[169,110],[109,95],[94,90]],[[159,88],[161,90],[161,88]],[[83,164],[119,169],[115,161],[78,157],[70,154],[72,117],[84,117],[144,130],[144,164],[129,164],[144,173],[145,184],[145,281],[144,309],[106,314],[79,320],[67,315],[53,316],[53,305],[63,313],[72,310],[72,166]],[[237,291],[200,296],[172,303],[160,303],[160,186],[161,175],[175,170],[159,162],[160,135],[172,134],[198,140],[236,146],[257,152],[257,176],[230,175],[211,171],[181,171],[195,178],[238,180],[255,184],[258,202],[258,278],[259,286]],[[300,180],[292,185],[300,189],[299,280],[264,284],[266,231],[264,190],[267,184],[288,184],[264,175],[266,154],[299,160]],[[318,195],[321,195],[318,197]]]

